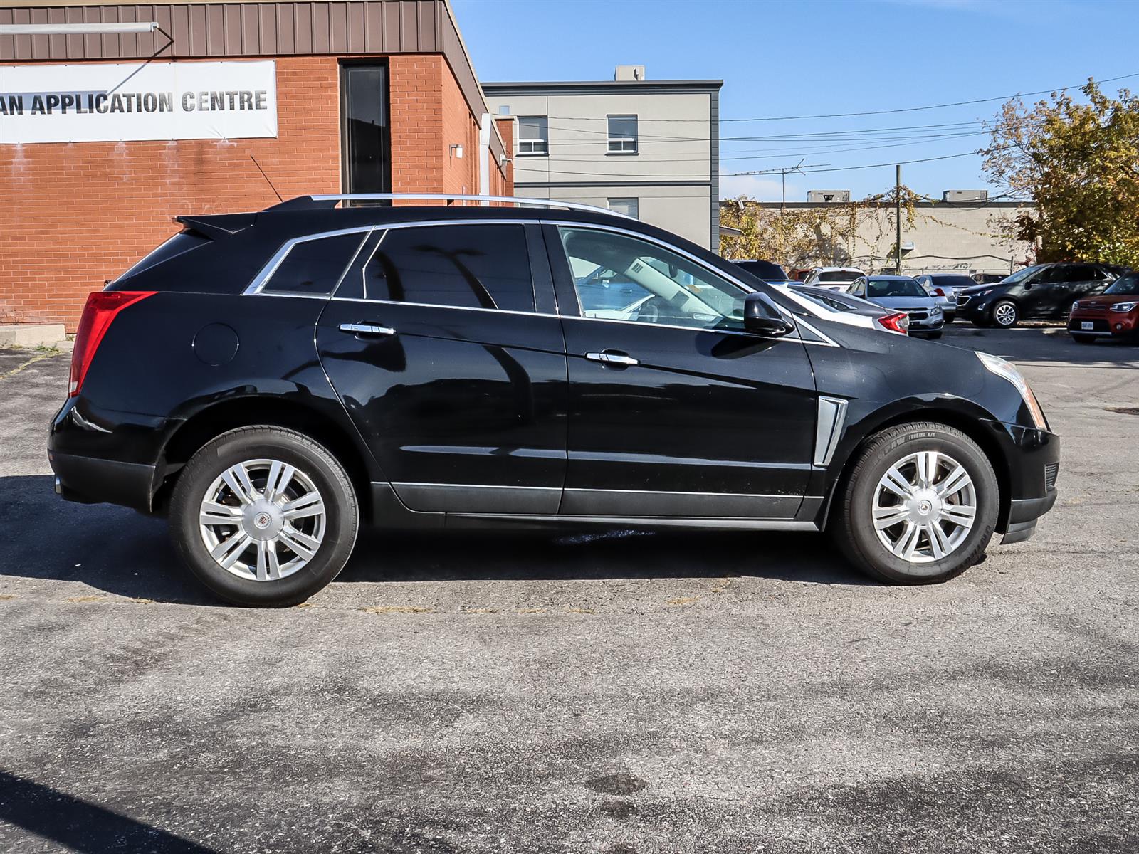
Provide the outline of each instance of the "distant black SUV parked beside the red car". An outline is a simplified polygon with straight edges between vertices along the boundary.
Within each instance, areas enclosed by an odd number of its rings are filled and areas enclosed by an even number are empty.
[[[1072,303],[1103,294],[1125,268],[1036,264],[991,285],[957,291],[957,317],[976,326],[1011,328],[1021,320],[1067,319]]]

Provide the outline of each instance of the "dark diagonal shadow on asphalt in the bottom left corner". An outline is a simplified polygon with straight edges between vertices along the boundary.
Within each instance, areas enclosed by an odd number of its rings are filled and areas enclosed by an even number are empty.
[[[0,821],[49,839],[68,851],[146,851],[212,854],[206,848],[49,786],[0,771]]]

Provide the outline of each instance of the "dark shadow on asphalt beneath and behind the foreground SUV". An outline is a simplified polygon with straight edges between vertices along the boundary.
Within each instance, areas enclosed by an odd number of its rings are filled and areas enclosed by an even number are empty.
[[[116,596],[218,605],[182,566],[166,523],[112,504],[60,500],[49,475],[0,477],[10,536],[3,576],[77,581]],[[756,575],[867,584],[818,534],[362,531],[338,582],[682,578]]]

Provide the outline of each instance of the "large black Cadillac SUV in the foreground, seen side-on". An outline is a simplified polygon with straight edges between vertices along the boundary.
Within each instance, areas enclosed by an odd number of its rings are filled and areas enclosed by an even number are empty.
[[[995,356],[831,322],[605,211],[359,202],[179,217],[84,309],[56,488],[167,514],[224,599],[305,599],[361,523],[827,529],[925,583],[1056,500],[1058,440]]]

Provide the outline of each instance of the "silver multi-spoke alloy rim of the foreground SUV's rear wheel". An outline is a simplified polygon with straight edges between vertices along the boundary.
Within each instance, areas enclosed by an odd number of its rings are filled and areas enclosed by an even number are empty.
[[[202,541],[239,578],[278,581],[316,556],[327,522],[320,491],[280,460],[247,460],[210,484],[199,510]]]

